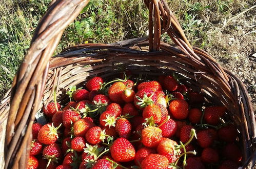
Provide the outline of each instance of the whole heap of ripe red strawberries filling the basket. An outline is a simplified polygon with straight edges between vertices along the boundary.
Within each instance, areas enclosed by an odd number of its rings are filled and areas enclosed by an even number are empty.
[[[32,127],[28,168],[238,168],[238,131],[226,108],[178,82],[93,77]]]

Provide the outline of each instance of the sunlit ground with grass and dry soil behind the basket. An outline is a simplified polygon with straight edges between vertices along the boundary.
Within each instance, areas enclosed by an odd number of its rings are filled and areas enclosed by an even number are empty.
[[[245,83],[256,108],[256,3],[254,0],[167,1],[193,46],[209,52]],[[33,30],[49,0],[0,4],[0,98],[29,48]],[[113,43],[146,35],[142,0],[92,0],[66,29],[55,53],[81,43]],[[170,38],[163,35],[170,43]]]

